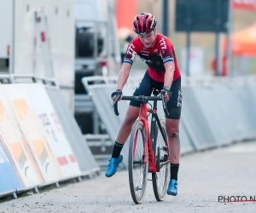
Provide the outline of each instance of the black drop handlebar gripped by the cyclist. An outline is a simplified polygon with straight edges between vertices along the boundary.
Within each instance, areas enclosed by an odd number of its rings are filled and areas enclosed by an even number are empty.
[[[113,101],[113,110],[114,110],[114,113],[116,114],[116,116],[119,116],[118,101],[119,101],[120,96],[121,95],[118,95],[117,98],[115,99],[115,101]],[[163,95],[161,97],[160,96],[144,96],[144,95],[123,96],[122,100],[125,100],[125,101],[135,100],[135,101],[142,101],[142,102],[144,102],[144,101],[162,101],[163,109],[166,114],[166,117],[169,116],[169,112],[166,107],[165,97]]]

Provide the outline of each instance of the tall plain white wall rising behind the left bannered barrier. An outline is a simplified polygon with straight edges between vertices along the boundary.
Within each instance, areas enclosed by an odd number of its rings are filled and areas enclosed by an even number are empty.
[[[36,33],[35,11],[44,11],[48,19],[51,54],[54,75],[62,93],[73,111],[74,86],[74,0],[19,0],[15,1],[15,26],[13,43],[14,66],[10,72],[15,74],[35,74],[45,77],[49,61],[44,60],[48,51],[42,49],[39,34]],[[38,43],[34,48],[34,37]]]

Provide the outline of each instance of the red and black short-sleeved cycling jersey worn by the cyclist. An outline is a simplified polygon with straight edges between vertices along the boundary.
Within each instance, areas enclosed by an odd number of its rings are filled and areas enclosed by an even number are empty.
[[[177,59],[172,42],[162,34],[156,35],[153,48],[144,47],[139,37],[134,38],[127,48],[124,63],[133,64],[137,55],[148,65],[148,74],[155,81],[164,82],[166,68],[164,64],[168,61],[174,62],[173,81],[180,77]]]

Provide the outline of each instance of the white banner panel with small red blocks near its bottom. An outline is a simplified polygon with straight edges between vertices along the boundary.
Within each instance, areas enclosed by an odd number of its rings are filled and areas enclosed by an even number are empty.
[[[62,178],[80,176],[81,170],[43,84],[24,84],[45,140],[61,167]]]

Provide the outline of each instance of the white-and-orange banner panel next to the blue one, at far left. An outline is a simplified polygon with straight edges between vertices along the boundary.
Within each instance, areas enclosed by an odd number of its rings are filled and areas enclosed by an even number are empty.
[[[10,85],[0,87],[0,135],[3,147],[20,177],[23,187],[34,187],[44,182],[44,176],[32,153],[32,148],[20,130],[12,110],[8,93]]]

